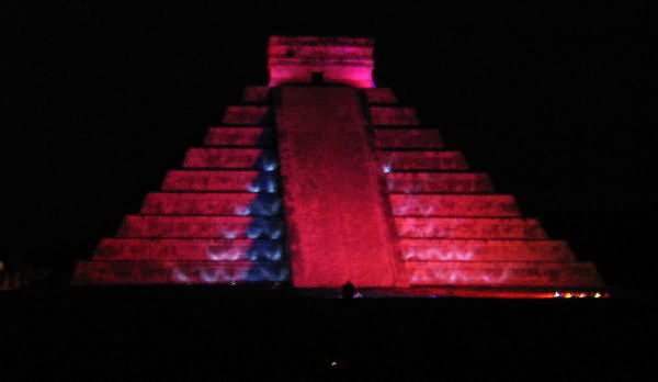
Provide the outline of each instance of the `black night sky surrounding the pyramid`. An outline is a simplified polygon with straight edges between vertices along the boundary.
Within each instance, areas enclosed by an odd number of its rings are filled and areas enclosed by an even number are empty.
[[[549,235],[610,283],[649,285],[647,7],[212,3],[19,12],[2,256],[61,270],[90,257],[245,86],[265,83],[269,35],[364,35],[377,38],[377,83]]]

